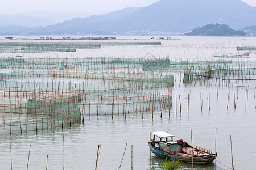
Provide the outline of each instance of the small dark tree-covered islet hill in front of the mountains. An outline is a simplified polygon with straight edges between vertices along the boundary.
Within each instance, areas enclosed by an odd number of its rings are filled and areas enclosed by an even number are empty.
[[[245,36],[245,32],[231,29],[226,24],[207,24],[193,29],[188,36]]]

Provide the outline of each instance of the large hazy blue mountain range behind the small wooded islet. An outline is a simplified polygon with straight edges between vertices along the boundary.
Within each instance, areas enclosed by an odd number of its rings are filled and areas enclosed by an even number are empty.
[[[105,15],[74,18],[20,33],[26,35],[182,33],[209,23],[227,24],[233,29],[256,25],[256,8],[241,0],[160,0],[146,7],[130,7]]]

